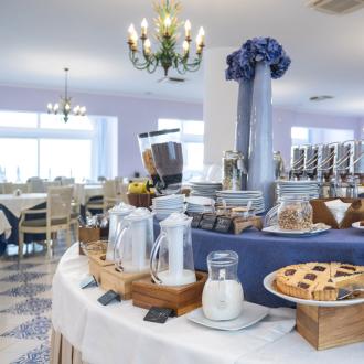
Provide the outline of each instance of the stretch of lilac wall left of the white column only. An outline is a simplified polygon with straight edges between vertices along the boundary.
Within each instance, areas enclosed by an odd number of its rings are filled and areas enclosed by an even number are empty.
[[[44,111],[58,96],[57,90],[0,86],[0,109]],[[202,120],[201,104],[81,93],[72,96],[77,104],[86,105],[89,115],[118,118],[118,174],[122,176],[143,172],[137,135],[156,130],[159,118]]]

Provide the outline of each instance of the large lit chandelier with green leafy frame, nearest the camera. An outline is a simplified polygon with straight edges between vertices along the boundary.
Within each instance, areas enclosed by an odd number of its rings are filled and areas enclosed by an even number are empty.
[[[196,36],[195,55],[191,56],[191,22],[184,22],[184,40],[180,52],[178,51],[178,41],[180,38],[179,29],[183,25],[176,18],[181,10],[180,2],[174,0],[162,0],[161,3],[154,4],[157,18],[153,20],[156,33],[153,39],[158,43],[158,49],[152,52],[152,44],[148,36],[148,22],[144,18],[141,22],[140,38],[131,24],[129,26],[129,57],[137,69],[147,69],[153,73],[158,66],[164,69],[164,76],[168,76],[169,69],[172,67],[179,74],[194,72],[200,68],[202,61],[202,52],[205,46],[205,32],[201,26]],[[139,51],[139,39],[141,41],[141,51]]]

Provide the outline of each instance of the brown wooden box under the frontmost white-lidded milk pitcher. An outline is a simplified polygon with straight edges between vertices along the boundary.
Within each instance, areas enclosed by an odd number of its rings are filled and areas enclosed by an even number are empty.
[[[151,278],[132,282],[132,304],[143,309],[151,307],[172,309],[176,315],[185,314],[202,306],[202,291],[207,274],[196,271],[197,281],[185,286],[162,286]]]

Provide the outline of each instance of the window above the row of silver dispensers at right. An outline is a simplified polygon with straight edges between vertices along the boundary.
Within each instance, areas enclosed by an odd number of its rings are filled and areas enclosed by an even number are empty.
[[[329,128],[291,128],[292,146],[321,144],[354,139],[354,130]]]

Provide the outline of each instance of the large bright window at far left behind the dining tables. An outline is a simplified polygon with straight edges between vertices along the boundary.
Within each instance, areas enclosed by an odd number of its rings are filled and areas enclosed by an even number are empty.
[[[0,179],[117,175],[117,118],[0,111]],[[103,161],[103,163],[100,163]]]

